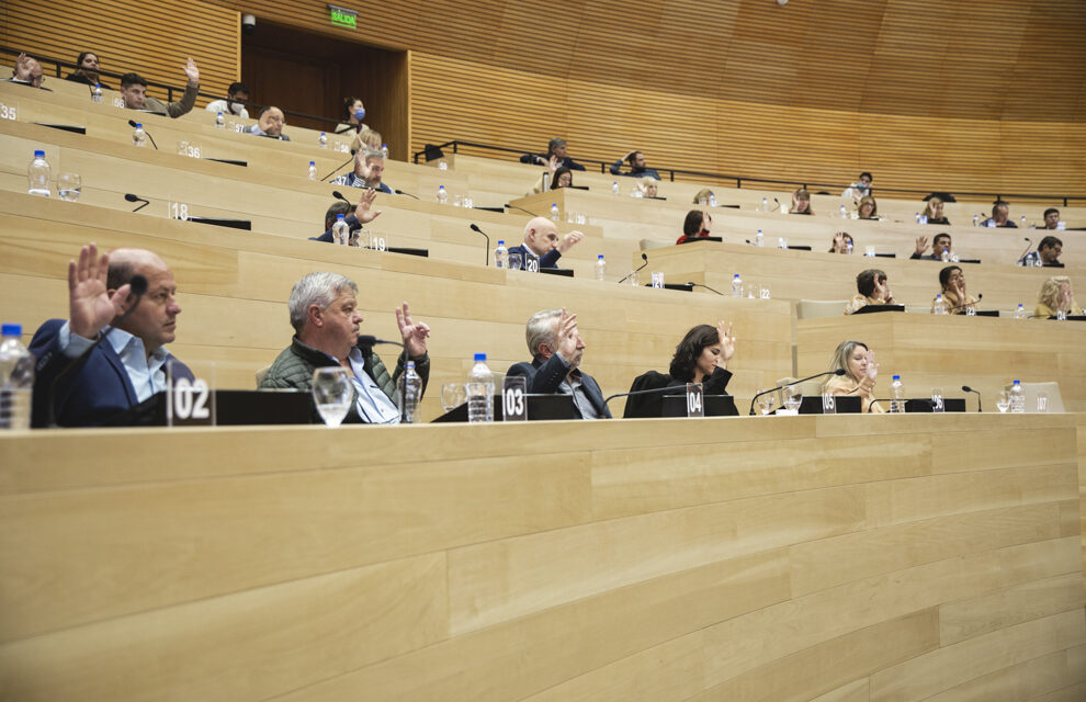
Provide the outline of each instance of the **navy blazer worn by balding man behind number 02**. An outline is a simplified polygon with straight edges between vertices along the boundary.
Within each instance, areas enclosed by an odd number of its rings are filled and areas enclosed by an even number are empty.
[[[31,420],[34,427],[49,424],[53,381],[73,361],[60,351],[59,333],[64,322],[64,319],[46,321],[31,340],[31,353],[37,359]],[[172,355],[167,363],[170,361],[176,362],[174,372],[178,375],[195,380],[189,366]],[[101,427],[138,403],[121,356],[106,340],[80,362],[80,367],[72,369],[57,387],[56,419],[61,427]]]

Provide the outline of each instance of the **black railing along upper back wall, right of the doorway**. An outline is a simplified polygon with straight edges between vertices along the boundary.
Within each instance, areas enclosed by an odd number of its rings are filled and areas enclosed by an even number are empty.
[[[466,148],[472,148],[472,149],[479,149],[482,151],[499,151],[499,152],[504,152],[504,154],[516,154],[517,157],[518,157],[518,159],[520,158],[520,156],[523,156],[524,154],[529,154],[529,152],[534,154],[535,152],[535,151],[531,151],[530,149],[512,149],[512,148],[505,147],[505,146],[494,146],[491,144],[478,144],[476,141],[464,141],[463,139],[453,139],[452,141],[445,141],[444,144],[428,145],[428,147],[429,148],[426,148],[426,149],[423,149],[421,151],[416,151],[415,152],[414,160],[415,160],[416,163],[419,162],[419,157],[426,157],[428,152],[433,152],[433,149],[446,149],[446,148],[451,148],[453,154],[459,154],[461,147],[466,147]],[[431,160],[431,159],[428,159],[428,160]],[[591,159],[591,158],[578,158],[577,161],[579,163],[591,163],[593,166],[595,165],[599,165],[600,172],[601,173],[606,173],[606,174],[610,174],[611,165],[614,162],[614,161],[601,161],[601,160]],[[728,176],[726,173],[711,173],[709,171],[694,171],[694,170],[687,170],[687,169],[681,169],[681,168],[656,168],[656,171],[658,173],[660,173],[660,174],[665,174],[666,173],[667,177],[668,177],[667,179],[669,181],[672,181],[672,182],[675,181],[675,177],[676,176],[681,176],[681,177],[687,178],[688,180],[698,180],[700,182],[706,182],[706,183],[731,183],[731,182],[734,182],[735,183],[735,186],[737,189],[742,189],[744,182],[746,182],[748,184],[749,183],[757,183],[757,184],[769,184],[769,185],[787,185],[788,186],[787,188],[788,190],[791,190],[794,186],[805,188],[807,190],[812,190],[812,189],[830,189],[832,192],[829,194],[835,194],[835,193],[842,192],[845,189],[847,189],[847,188],[849,188],[851,185],[851,183],[844,183],[842,184],[842,183],[823,183],[823,182],[801,181],[801,180],[787,180],[787,179],[785,180],[781,180],[781,179],[776,179],[776,178],[762,178],[762,177],[758,177],[758,176]],[[881,184],[879,185],[878,189],[872,189],[872,190],[878,190],[879,194],[918,195],[919,197],[924,197],[924,196],[929,195],[931,193],[947,192],[947,193],[952,193],[955,197],[958,197],[958,196],[962,196],[962,197],[991,197],[993,201],[997,201],[997,200],[1009,201],[1011,199],[1014,199],[1014,200],[1040,200],[1040,201],[1050,202],[1050,203],[1051,202],[1054,202],[1054,201],[1060,201],[1060,202],[1063,203],[1063,206],[1064,207],[1067,207],[1068,206],[1068,203],[1071,201],[1075,201],[1075,200],[1086,201],[1086,195],[1048,195],[1048,194],[1036,194],[1036,193],[1033,193],[1033,194],[1028,194],[1028,193],[1002,193],[1002,192],[998,192],[998,191],[995,191],[995,190],[992,190],[992,191],[982,191],[982,192],[963,192],[963,191],[960,191],[960,190],[947,190],[947,189],[938,189],[938,188],[936,188],[936,189],[926,189],[926,190],[916,190],[916,189],[910,189],[910,188],[886,188],[886,186],[883,186]],[[815,194],[818,194],[818,193],[815,193]]]

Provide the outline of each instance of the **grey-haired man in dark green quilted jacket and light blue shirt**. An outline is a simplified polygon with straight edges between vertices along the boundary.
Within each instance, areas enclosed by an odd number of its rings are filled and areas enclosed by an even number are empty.
[[[388,375],[372,347],[358,346],[359,325],[363,321],[358,294],[354,281],[338,273],[309,273],[295,283],[287,303],[294,339],[275,359],[260,387],[310,392],[314,371],[340,365],[347,369],[354,386],[351,411],[344,421],[396,424],[400,415],[396,380],[404,372],[406,361],[400,353],[396,371]],[[430,328],[421,321],[411,321],[407,303],[396,308],[396,324],[426,393],[430,377],[427,353]],[[314,423],[320,421],[316,408],[313,417]]]

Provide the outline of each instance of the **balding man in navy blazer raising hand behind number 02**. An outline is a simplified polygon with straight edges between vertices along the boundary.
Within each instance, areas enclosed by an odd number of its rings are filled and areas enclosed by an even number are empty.
[[[132,295],[142,276],[143,295]],[[173,271],[144,249],[115,249],[99,257],[92,242],[68,263],[68,319],[43,324],[30,350],[37,358],[33,426],[49,424],[50,399],[61,427],[93,427],[166,389],[166,364],[174,376],[192,372],[166,350],[177,335],[178,304]],[[110,336],[59,380],[66,367],[106,329]]]

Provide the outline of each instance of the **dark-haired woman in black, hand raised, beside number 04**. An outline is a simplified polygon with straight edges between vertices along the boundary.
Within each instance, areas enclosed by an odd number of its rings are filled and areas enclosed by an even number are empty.
[[[698,325],[682,337],[675,348],[671,365],[667,374],[648,371],[634,378],[630,392],[653,388],[686,388],[687,383],[702,383],[705,395],[727,395],[727,383],[732,373],[727,362],[735,354],[735,337],[732,325],[725,329],[724,322],[713,328]],[[626,398],[623,417],[659,417],[664,414],[664,395],[648,393],[631,395]]]

